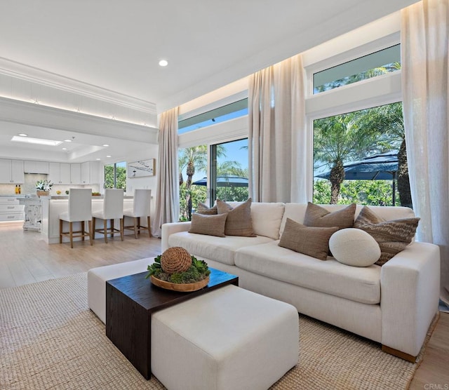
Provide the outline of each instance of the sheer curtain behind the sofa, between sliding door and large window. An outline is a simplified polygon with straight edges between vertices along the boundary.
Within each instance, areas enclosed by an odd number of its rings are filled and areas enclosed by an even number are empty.
[[[253,201],[307,201],[312,170],[304,112],[301,55],[250,76],[248,174]]]

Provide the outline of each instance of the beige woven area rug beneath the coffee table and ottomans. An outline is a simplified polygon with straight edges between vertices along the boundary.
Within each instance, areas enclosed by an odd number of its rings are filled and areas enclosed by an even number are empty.
[[[86,274],[0,290],[0,326],[0,389],[164,389],[109,342],[88,309]],[[300,316],[298,364],[272,389],[407,389],[416,368]]]

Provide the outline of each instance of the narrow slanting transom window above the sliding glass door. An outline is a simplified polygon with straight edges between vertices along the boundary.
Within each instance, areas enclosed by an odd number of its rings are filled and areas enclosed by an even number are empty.
[[[239,116],[248,114],[248,99],[239,100],[237,102],[225,105],[223,107],[213,109],[203,114],[192,116],[192,118],[179,121],[177,124],[178,134],[187,133],[198,128],[211,126],[229,119],[238,118]]]

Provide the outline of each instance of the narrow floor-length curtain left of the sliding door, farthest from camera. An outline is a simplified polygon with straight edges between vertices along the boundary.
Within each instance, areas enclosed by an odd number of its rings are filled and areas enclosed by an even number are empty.
[[[161,236],[162,224],[179,221],[180,188],[177,168],[177,107],[161,114],[156,211],[152,234]]]

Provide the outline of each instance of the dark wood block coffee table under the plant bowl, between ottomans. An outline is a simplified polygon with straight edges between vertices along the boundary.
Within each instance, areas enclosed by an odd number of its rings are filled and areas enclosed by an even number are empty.
[[[239,285],[239,277],[210,268],[210,281],[193,292],[177,292],[156,287],[147,272],[123,276],[106,282],[106,335],[149,379],[151,372],[152,314],[173,304],[198,297],[224,285]]]

